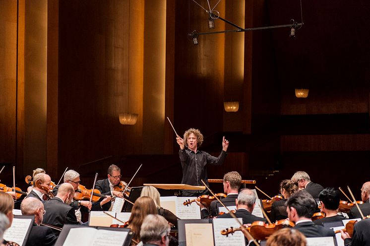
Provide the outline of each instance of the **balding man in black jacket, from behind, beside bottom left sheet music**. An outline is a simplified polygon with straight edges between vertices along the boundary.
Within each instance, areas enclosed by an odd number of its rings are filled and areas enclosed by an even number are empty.
[[[46,226],[40,226],[44,219],[44,205],[34,197],[25,198],[21,204],[22,215],[34,215],[35,222],[28,236],[26,246],[53,246],[58,237],[53,230]]]

